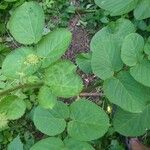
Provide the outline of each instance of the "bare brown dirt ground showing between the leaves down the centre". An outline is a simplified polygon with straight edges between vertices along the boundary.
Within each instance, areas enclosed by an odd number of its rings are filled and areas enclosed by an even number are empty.
[[[76,6],[80,5],[79,2],[77,2],[76,0],[71,0],[71,1]],[[70,48],[68,49],[68,51],[65,53],[63,57],[65,59],[71,60],[74,63],[75,63],[75,58],[78,54],[90,51],[91,36],[89,35],[89,32],[86,28],[78,25],[80,17],[81,17],[80,14],[75,14],[69,21],[68,28],[72,32],[73,38],[72,38],[72,43]],[[96,77],[94,75],[85,74],[80,69],[78,69],[77,72],[83,79],[85,89],[94,84],[96,80]],[[99,91],[97,91],[97,89],[94,89],[88,92],[97,93]],[[90,98],[95,103],[98,103],[101,99],[99,96],[94,96],[94,97],[90,96],[86,98]]]

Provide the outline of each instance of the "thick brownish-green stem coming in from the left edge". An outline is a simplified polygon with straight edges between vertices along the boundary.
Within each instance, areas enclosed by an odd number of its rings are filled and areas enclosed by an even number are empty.
[[[3,90],[0,92],[0,97],[4,96],[4,95],[8,95],[13,91],[19,90],[19,89],[25,89],[25,88],[39,88],[43,85],[43,82],[38,82],[38,83],[26,83],[26,84],[22,84],[22,85],[17,85],[15,87],[12,87],[10,89],[7,90]]]

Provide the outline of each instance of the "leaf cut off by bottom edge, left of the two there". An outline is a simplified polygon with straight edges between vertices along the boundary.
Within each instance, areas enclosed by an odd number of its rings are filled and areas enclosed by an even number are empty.
[[[34,144],[30,150],[63,150],[64,147],[61,139],[49,137]]]

